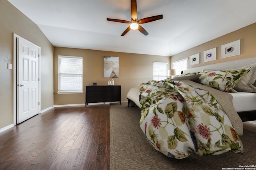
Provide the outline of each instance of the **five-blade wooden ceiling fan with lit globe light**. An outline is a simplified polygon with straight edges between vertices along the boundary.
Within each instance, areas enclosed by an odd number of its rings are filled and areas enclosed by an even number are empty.
[[[130,29],[138,29],[144,35],[148,35],[148,32],[142,26],[140,26],[140,24],[160,20],[163,18],[163,15],[158,15],[158,16],[152,16],[152,17],[138,20],[136,0],[131,0],[131,16],[132,16],[131,21],[111,19],[111,18],[107,18],[107,20],[114,21],[114,22],[130,23],[129,27],[126,28],[126,30],[121,35],[121,36],[124,36],[126,33],[128,33],[128,31],[130,31]]]

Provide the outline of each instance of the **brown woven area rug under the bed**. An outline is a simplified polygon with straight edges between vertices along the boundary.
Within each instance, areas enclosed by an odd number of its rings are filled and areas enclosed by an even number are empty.
[[[198,156],[176,160],[153,149],[140,129],[140,108],[127,103],[110,104],[111,170],[221,170],[256,164],[256,133],[244,129],[244,154]]]

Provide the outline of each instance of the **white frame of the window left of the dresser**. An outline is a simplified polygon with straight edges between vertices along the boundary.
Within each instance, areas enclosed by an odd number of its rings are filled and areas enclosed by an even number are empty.
[[[82,64],[82,67],[79,70],[82,74],[76,73],[76,75],[81,75],[81,77],[82,77],[81,78],[82,82],[80,82],[81,90],[60,90],[60,85],[61,85],[60,84],[61,83],[61,81],[60,81],[60,74],[63,75],[63,73],[60,73],[60,58],[82,59],[82,63],[80,63],[80,64]],[[66,75],[68,75],[68,74],[66,74]],[[57,94],[82,94],[82,93],[84,93],[83,92],[83,57],[58,55],[58,92],[57,92]]]

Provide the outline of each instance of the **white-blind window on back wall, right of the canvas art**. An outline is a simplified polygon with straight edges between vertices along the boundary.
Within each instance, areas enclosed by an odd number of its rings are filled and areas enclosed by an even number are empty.
[[[168,63],[153,62],[153,80],[164,80],[168,78]]]

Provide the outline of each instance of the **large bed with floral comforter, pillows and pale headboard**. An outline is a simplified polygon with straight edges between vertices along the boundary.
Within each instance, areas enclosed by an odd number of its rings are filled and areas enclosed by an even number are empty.
[[[182,159],[190,152],[200,156],[242,154],[242,121],[256,120],[256,91],[241,92],[245,86],[238,86],[238,82],[244,82],[246,75],[246,81],[255,81],[256,64],[251,63],[256,63],[256,58],[184,70],[172,79],[150,80],[130,89],[128,106],[141,108],[140,127],[146,139],[168,157]],[[192,80],[196,76],[199,82]],[[250,88],[256,90],[254,86]]]

